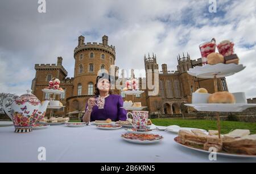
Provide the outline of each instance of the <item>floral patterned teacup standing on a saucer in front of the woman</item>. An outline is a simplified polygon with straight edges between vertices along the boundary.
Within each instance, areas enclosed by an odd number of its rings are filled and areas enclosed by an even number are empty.
[[[134,110],[133,113],[127,113],[128,115],[133,115],[133,128],[137,129],[138,131],[145,131],[147,130],[147,119],[148,119],[148,111],[137,111]]]

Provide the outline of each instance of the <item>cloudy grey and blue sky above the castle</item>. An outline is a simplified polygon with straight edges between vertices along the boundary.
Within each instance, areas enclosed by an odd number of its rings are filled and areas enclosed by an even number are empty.
[[[246,68],[226,77],[229,91],[256,97],[256,1],[217,0],[216,13],[209,13],[209,2],[46,0],[46,13],[39,13],[37,0],[1,0],[0,93],[25,93],[35,64],[55,64],[58,56],[73,77],[78,37],[102,43],[108,35],[115,65],[127,71],[144,69],[148,52],[156,54],[159,68],[167,64],[175,71],[179,53],[199,59],[199,44],[231,40]]]

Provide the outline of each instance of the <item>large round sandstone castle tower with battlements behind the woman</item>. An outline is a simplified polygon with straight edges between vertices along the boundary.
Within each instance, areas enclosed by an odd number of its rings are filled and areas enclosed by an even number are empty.
[[[72,95],[88,96],[93,94],[97,75],[102,72],[110,73],[111,65],[115,64],[115,47],[108,45],[106,35],[102,37],[102,43],[85,43],[84,36],[79,36],[78,43],[74,50],[75,72]]]

